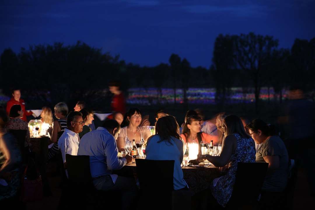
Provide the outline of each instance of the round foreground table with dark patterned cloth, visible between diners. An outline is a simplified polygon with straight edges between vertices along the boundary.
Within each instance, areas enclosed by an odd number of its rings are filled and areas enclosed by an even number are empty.
[[[184,179],[189,186],[191,192],[198,193],[208,188],[213,179],[220,177],[221,173],[218,167],[215,166],[184,166],[182,167]],[[125,177],[137,177],[136,164],[129,163],[122,169],[113,173]]]

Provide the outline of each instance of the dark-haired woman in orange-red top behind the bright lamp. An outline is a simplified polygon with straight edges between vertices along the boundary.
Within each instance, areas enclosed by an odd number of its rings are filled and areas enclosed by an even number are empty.
[[[183,133],[180,134],[181,138],[186,142],[205,141],[210,143],[213,140],[213,145],[218,144],[218,137],[209,135],[208,133],[201,132],[201,118],[196,115],[187,116],[187,121],[183,128]]]

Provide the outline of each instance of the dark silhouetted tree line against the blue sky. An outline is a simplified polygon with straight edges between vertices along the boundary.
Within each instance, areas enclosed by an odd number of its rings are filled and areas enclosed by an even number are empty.
[[[115,79],[122,89],[155,87],[183,89],[184,103],[189,87],[216,88],[215,101],[223,105],[232,87],[246,93],[254,88],[259,110],[261,87],[273,88],[281,103],[283,88],[314,91],[315,37],[296,38],[292,47],[278,48],[278,39],[256,35],[219,34],[215,39],[212,65],[191,67],[186,58],[171,54],[169,63],[148,67],[120,60],[119,55],[102,53],[102,48],[84,42],[64,45],[30,45],[19,53],[7,48],[1,54],[0,89],[10,95],[12,88],[48,90],[53,101],[74,101],[96,97]],[[210,56],[209,56],[210,57]]]

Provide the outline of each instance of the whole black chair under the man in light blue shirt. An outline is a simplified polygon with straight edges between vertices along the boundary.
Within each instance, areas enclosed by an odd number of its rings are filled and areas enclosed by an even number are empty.
[[[112,191],[104,192],[96,190],[90,172],[89,156],[80,155],[73,156],[66,154],[66,165],[68,171],[68,185],[63,189],[60,209],[64,209],[66,205],[73,207],[73,202],[69,202],[70,195],[73,195],[73,201],[79,209],[104,209],[106,202],[115,201],[116,208],[119,209],[119,194]]]

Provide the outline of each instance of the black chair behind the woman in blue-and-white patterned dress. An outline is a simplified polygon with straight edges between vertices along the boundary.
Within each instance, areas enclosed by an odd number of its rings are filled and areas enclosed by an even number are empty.
[[[226,208],[255,208],[267,169],[268,163],[238,162],[232,196]]]

